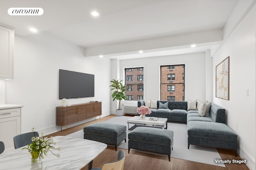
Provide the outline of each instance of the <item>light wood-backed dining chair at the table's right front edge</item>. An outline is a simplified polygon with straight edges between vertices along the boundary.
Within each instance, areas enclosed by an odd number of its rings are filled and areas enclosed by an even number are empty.
[[[119,150],[118,155],[117,155],[117,161],[104,164],[102,166],[102,169],[92,168],[91,170],[123,170],[124,169],[124,157],[125,157],[124,150]]]

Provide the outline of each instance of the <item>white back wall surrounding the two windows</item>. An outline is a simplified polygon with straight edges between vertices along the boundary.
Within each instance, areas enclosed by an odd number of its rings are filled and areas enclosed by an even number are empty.
[[[206,53],[192,53],[120,61],[120,78],[124,68],[144,67],[144,99],[160,99],[160,66],[185,64],[185,100],[206,98]],[[211,75],[210,75],[211,76]]]

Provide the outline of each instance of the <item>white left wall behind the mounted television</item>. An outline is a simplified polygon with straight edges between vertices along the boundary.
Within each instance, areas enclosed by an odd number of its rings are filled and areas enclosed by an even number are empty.
[[[61,106],[59,69],[94,74],[95,97],[70,99],[70,102],[98,100],[102,102],[102,114],[109,114],[110,59],[87,59],[83,53],[84,49],[46,33],[15,35],[14,80],[6,81],[6,104],[24,105],[22,133],[32,127],[46,132],[59,129],[55,125],[56,106]]]

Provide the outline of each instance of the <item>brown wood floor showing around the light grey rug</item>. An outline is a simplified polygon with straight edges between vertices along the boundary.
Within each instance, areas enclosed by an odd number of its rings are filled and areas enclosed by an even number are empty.
[[[130,115],[128,115],[130,116]],[[68,128],[62,131],[58,131],[56,133],[52,133],[50,136],[65,136],[70,133],[74,133],[83,129],[84,127],[95,123],[102,122],[108,119],[115,117],[115,115],[108,115],[105,117],[101,117],[100,119],[96,119],[87,123],[83,123],[81,125],[77,125],[75,127]],[[127,139],[128,140],[128,139]],[[120,150],[120,148],[118,148]],[[115,151],[114,147],[108,146],[102,153],[100,153],[94,160],[92,167],[102,168],[104,163],[113,162],[117,160],[118,150]],[[202,164],[198,162],[192,162],[188,160],[176,159],[172,158],[171,162],[168,161],[167,156],[160,156],[156,154],[149,154],[144,152],[138,152],[135,150],[130,150],[128,154],[127,149],[122,149],[125,152],[125,162],[124,162],[124,170],[249,170],[246,164],[225,164],[226,167],[214,166],[209,164]],[[222,158],[222,160],[242,160],[240,156],[235,157],[234,152],[232,150],[218,149],[218,152]],[[87,170],[87,165],[82,168],[82,170]]]

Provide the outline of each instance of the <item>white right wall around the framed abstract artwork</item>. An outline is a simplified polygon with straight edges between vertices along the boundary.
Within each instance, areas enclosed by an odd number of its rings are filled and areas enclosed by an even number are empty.
[[[246,164],[250,169],[256,168],[255,16],[256,6],[214,55],[212,66],[215,89],[215,66],[230,56],[230,100],[214,97],[214,103],[226,109],[227,125],[238,135],[238,154],[247,160]],[[213,93],[215,96],[215,90]]]

